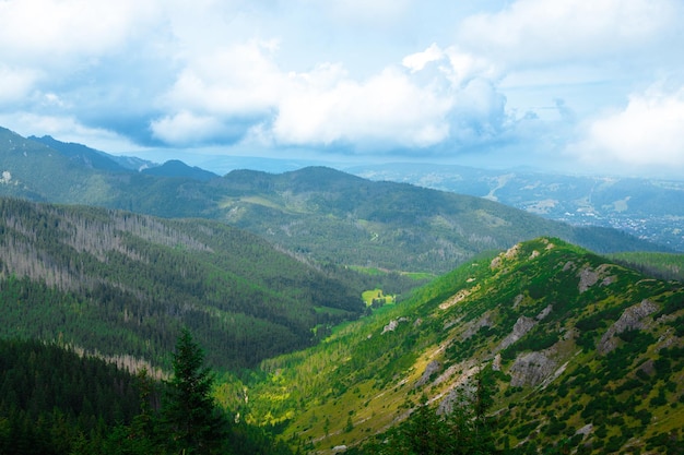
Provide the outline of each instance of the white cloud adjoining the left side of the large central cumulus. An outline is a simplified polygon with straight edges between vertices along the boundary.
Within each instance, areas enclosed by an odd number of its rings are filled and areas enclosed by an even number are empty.
[[[153,135],[175,145],[239,140],[286,89],[286,75],[272,58],[276,48],[273,41],[250,41],[192,56],[160,97],[167,113],[151,122]]]

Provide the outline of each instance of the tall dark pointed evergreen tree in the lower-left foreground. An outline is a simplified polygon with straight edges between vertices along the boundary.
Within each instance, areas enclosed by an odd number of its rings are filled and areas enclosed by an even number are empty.
[[[225,417],[211,396],[214,376],[204,367],[204,352],[188,330],[176,343],[173,367],[162,407],[168,448],[188,455],[215,453],[225,442]]]

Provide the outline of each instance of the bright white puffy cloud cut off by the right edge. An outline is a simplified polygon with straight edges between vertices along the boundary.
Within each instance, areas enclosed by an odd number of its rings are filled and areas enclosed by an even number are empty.
[[[684,86],[657,84],[591,122],[568,152],[591,165],[684,167]]]

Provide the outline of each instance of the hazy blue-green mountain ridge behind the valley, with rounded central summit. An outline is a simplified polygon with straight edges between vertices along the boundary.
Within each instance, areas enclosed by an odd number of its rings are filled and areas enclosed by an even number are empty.
[[[547,235],[598,252],[659,249],[613,229],[570,227],[481,197],[330,168],[236,170],[211,179],[188,167],[186,177],[168,177],[176,175],[172,163],[154,176],[96,166],[92,151],[60,152],[2,129],[0,151],[0,194],[216,219],[323,265],[440,274],[473,254]]]

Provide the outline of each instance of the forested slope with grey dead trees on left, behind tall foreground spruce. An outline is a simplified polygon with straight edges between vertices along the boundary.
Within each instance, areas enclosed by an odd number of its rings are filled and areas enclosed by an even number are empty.
[[[2,337],[158,367],[187,326],[212,364],[251,366],[364,311],[332,272],[215,221],[0,199]]]

